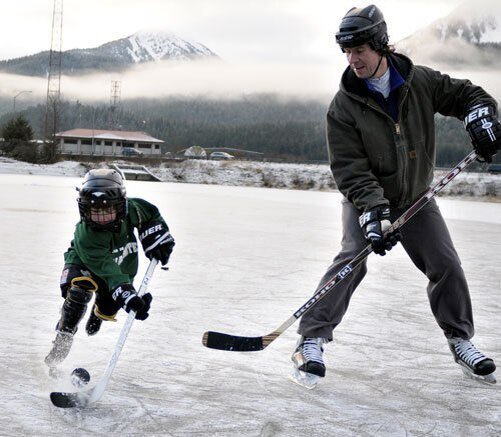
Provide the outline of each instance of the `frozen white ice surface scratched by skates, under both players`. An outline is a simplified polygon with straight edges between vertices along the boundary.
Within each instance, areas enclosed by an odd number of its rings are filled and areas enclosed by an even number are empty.
[[[261,352],[202,346],[206,330],[264,335],[310,297],[339,248],[332,192],[127,182],[171,227],[170,271],[155,272],[151,316],[132,326],[101,401],[53,407],[49,392],[70,387],[49,380],[43,358],[79,184],[0,174],[0,435],[501,435],[501,383],[463,377],[429,310],[426,278],[401,247],[371,255],[315,390],[287,379],[297,324]],[[469,279],[474,343],[501,365],[501,204],[439,205]],[[124,320],[96,337],[82,323],[67,374],[82,366],[99,379]]]

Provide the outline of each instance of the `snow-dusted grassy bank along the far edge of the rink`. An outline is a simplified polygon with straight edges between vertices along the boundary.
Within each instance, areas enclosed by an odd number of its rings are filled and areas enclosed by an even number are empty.
[[[83,176],[89,168],[94,166],[106,166],[106,163],[63,161],[51,165],[40,165],[0,157],[0,173]],[[158,167],[149,167],[149,169],[165,182],[321,191],[336,189],[330,168],[325,164],[185,160],[162,163]],[[445,174],[444,171],[437,171],[435,181]],[[501,175],[462,172],[444,188],[441,195],[497,201],[501,197]]]

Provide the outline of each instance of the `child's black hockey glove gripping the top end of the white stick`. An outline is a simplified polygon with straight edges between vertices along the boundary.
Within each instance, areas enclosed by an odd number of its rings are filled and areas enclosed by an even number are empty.
[[[149,259],[157,259],[163,266],[169,261],[176,244],[167,225],[157,220],[148,222],[139,229],[139,241],[145,255]]]

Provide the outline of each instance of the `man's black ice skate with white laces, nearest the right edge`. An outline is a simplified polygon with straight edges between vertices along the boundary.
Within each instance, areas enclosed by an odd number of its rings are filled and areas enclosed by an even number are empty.
[[[451,338],[448,342],[454,360],[461,366],[465,376],[486,384],[496,383],[494,361],[480,352],[471,341]]]

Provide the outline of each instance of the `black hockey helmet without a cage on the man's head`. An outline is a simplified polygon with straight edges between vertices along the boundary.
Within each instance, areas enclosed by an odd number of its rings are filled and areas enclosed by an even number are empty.
[[[388,41],[383,13],[374,5],[350,9],[336,33],[336,42],[343,51],[345,48],[369,44],[373,50],[382,52],[388,47]]]

